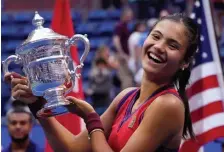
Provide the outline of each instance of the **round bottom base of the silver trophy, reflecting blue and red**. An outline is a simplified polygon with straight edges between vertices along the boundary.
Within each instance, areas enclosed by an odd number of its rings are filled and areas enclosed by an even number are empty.
[[[44,108],[40,109],[37,112],[37,117],[52,117],[57,116],[61,114],[68,113],[68,109],[66,106],[69,105],[69,102],[60,101],[59,103],[51,104],[51,105],[45,105]]]

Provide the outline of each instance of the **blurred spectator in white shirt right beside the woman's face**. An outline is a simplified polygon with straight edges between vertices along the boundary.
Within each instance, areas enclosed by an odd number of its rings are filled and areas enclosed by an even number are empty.
[[[134,31],[128,39],[130,53],[128,67],[133,75],[141,68],[141,49],[139,49],[138,43],[144,32],[146,32],[146,24],[144,22],[137,22]]]

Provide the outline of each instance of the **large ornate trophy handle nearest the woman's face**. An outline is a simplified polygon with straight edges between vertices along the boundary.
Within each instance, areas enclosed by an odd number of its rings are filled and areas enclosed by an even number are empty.
[[[70,48],[72,45],[75,45],[76,41],[81,40],[84,43],[85,49],[84,52],[80,58],[80,64],[77,65],[74,69],[74,71],[70,70],[70,74],[73,77],[73,85],[75,84],[75,77],[80,77],[81,74],[77,72],[78,69],[81,69],[84,66],[84,60],[86,59],[89,50],[90,50],[90,43],[89,43],[89,39],[87,38],[87,35],[81,35],[81,34],[75,34],[74,36],[72,36],[70,39],[68,39],[65,42],[65,45],[67,48]]]

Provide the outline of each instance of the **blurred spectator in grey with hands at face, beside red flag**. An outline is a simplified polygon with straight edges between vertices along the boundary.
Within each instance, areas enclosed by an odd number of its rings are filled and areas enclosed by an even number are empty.
[[[89,75],[87,93],[91,97],[94,109],[101,115],[111,101],[112,78],[107,62],[103,58],[96,58],[94,62]]]

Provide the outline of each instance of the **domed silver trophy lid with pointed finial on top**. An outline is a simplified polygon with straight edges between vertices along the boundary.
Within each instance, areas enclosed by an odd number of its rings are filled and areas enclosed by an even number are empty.
[[[28,38],[22,43],[22,45],[26,45],[28,43],[32,43],[43,39],[68,39],[68,37],[55,33],[50,28],[44,28],[42,26],[44,24],[44,18],[41,17],[37,11],[35,12],[32,24],[36,27],[36,29],[34,29],[29,34]]]

